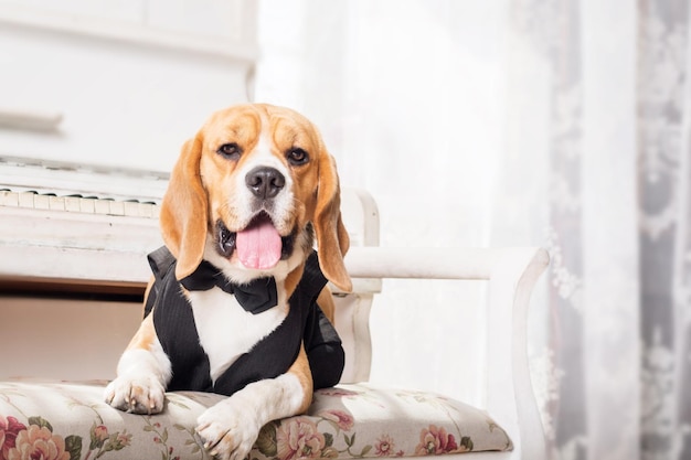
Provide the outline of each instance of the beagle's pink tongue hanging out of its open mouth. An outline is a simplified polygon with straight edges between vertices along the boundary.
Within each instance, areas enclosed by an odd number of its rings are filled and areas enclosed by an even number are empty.
[[[280,235],[268,220],[237,232],[235,244],[237,257],[247,268],[273,268],[280,260]]]

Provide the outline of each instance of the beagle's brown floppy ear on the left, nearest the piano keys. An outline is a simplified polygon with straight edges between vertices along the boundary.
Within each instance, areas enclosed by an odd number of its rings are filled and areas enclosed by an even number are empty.
[[[199,136],[182,146],[161,203],[161,232],[166,246],[178,259],[178,279],[199,267],[206,242],[209,211],[200,176],[201,157],[202,141]]]

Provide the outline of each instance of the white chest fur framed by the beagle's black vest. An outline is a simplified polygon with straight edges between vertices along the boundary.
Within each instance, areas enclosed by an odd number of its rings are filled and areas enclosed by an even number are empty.
[[[235,297],[217,287],[208,291],[189,292],[196,323],[199,342],[209,356],[211,378],[216,378],[243,353],[272,333],[288,313],[285,299],[279,307],[263,313],[245,311]]]

